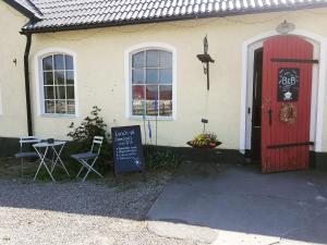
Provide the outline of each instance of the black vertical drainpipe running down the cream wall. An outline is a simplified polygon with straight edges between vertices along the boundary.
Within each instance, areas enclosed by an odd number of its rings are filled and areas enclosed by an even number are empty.
[[[32,45],[32,34],[23,34],[26,36],[26,46],[24,52],[24,74],[25,74],[25,96],[26,96],[26,112],[27,112],[27,132],[28,136],[33,135],[32,123],[32,107],[31,107],[31,90],[29,90],[29,51]]]

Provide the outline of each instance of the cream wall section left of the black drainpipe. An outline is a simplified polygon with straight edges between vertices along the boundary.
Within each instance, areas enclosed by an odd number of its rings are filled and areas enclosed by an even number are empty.
[[[26,38],[20,34],[27,21],[24,15],[0,1],[0,137],[27,134],[24,83]]]

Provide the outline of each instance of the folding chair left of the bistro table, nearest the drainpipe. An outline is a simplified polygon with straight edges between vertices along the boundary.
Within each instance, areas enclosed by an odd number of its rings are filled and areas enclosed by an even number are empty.
[[[21,151],[15,154],[15,158],[21,159],[22,176],[24,176],[24,159],[37,158],[38,160],[38,155],[33,149],[32,145],[39,142],[40,139],[36,136],[26,136],[20,138]]]

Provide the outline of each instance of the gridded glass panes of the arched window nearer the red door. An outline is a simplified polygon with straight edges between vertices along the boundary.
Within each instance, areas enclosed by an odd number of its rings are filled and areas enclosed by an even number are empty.
[[[172,52],[144,49],[131,56],[131,113],[158,118],[173,114]]]

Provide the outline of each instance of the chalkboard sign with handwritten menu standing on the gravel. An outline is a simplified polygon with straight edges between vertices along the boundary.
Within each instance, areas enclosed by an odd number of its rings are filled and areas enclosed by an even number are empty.
[[[111,136],[116,174],[143,171],[145,164],[140,126],[111,127]]]

